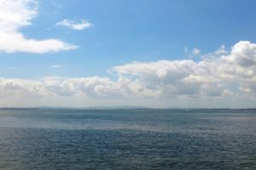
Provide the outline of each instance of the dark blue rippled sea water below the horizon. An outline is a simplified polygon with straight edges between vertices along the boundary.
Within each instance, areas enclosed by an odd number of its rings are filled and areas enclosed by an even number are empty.
[[[256,111],[0,110],[0,169],[256,169]]]

